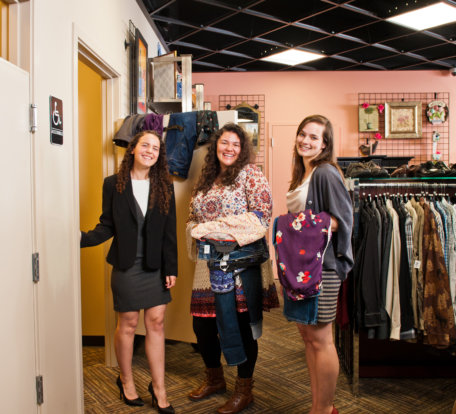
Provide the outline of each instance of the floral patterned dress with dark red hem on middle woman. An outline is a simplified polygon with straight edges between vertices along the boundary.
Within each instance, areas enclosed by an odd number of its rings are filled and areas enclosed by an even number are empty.
[[[190,202],[188,223],[207,223],[220,217],[257,211],[261,213],[261,224],[269,226],[272,215],[272,196],[269,184],[261,170],[247,164],[238,174],[233,186],[214,184],[206,193],[199,192]],[[198,277],[200,266],[205,268],[204,279]],[[262,276],[263,278],[265,276]],[[271,283],[264,283],[263,307],[265,310],[278,306],[277,292]],[[247,311],[247,302],[240,278],[236,278],[236,310]],[[193,316],[215,317],[215,298],[210,289],[207,264],[197,262],[193,280],[190,311]]]

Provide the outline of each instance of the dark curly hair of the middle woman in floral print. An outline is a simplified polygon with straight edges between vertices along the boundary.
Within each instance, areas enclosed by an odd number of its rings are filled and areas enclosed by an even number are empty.
[[[217,157],[217,143],[225,132],[234,132],[238,136],[241,143],[241,152],[235,163],[222,172],[220,161]],[[252,143],[245,130],[239,125],[231,122],[225,124],[211,136],[207,155],[204,159],[205,164],[201,176],[193,189],[193,195],[196,195],[200,191],[202,191],[203,194],[206,194],[211,189],[216,179],[224,186],[234,185],[234,181],[239,172],[247,164],[253,161],[253,156]]]

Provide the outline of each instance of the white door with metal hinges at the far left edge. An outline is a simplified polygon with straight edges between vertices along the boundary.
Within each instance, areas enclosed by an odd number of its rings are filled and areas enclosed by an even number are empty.
[[[0,58],[0,405],[36,413],[29,74]]]

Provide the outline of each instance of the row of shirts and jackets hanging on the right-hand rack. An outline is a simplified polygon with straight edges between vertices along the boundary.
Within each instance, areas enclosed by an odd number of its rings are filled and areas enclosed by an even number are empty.
[[[456,342],[455,224],[445,197],[361,199],[353,274],[357,322],[369,337]]]

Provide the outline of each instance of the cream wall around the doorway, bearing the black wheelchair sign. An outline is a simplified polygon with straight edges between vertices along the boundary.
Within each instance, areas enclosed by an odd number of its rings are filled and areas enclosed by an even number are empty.
[[[77,136],[74,136],[74,31],[121,75],[120,116],[129,113],[128,21],[157,50],[155,34],[135,0],[30,0],[32,102],[38,105],[34,140],[38,367],[44,377],[43,413],[82,413],[79,301]],[[77,66],[76,66],[77,67]],[[64,144],[49,141],[49,96],[63,100]],[[77,102],[77,101],[76,101]],[[114,398],[114,395],[113,395]]]

